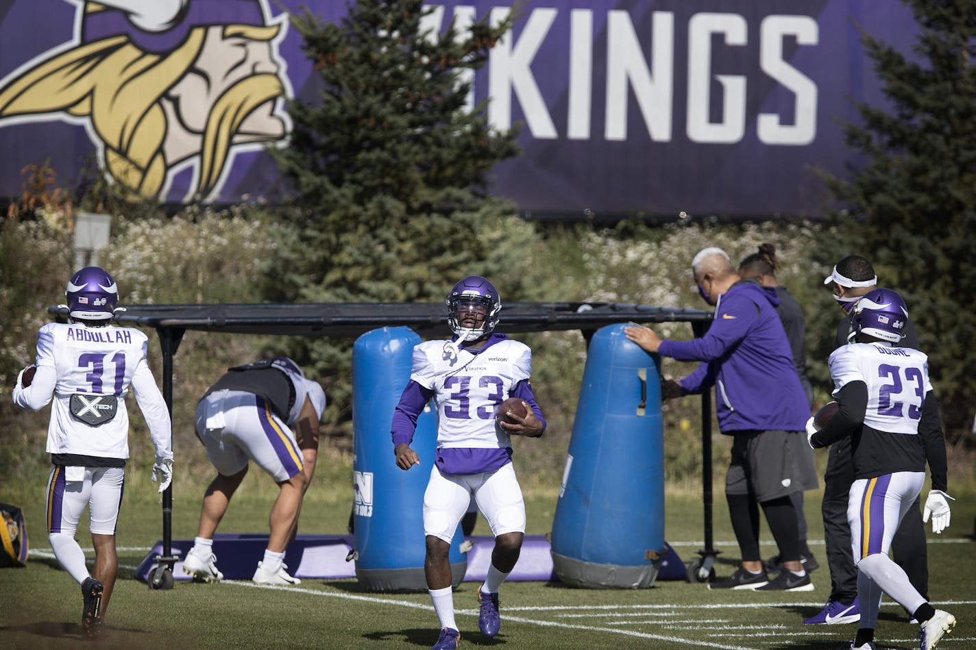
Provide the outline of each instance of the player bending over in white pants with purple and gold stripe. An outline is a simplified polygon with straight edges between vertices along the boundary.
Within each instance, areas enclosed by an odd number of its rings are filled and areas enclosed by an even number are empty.
[[[250,461],[278,484],[271,507],[264,558],[252,580],[261,585],[298,585],[288,574],[285,548],[295,539],[302,499],[318,456],[318,426],[325,391],[287,356],[230,368],[200,399],[196,435],[217,468],[200,508],[200,526],[183,571],[194,580],[220,582],[214,534]],[[293,430],[294,429],[294,430]]]

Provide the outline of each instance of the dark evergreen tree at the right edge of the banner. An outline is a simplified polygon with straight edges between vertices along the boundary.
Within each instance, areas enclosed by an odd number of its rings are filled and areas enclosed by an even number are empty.
[[[845,125],[865,164],[827,177],[847,206],[836,251],[874,264],[915,320],[947,432],[976,414],[976,0],[913,0],[913,52],[863,36],[889,105]],[[869,27],[870,29],[870,27]]]

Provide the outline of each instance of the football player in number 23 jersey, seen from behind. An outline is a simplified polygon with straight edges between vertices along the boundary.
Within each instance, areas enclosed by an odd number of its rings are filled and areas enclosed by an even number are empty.
[[[847,507],[851,547],[858,569],[861,621],[849,648],[874,650],[874,627],[882,592],[921,624],[921,649],[932,650],[952,630],[952,614],[934,609],[888,556],[891,539],[925,482],[932,486],[923,519],[941,533],[950,521],[946,494],[946,446],[928,378],[928,357],[902,340],[908,308],[890,289],[874,289],[854,307],[851,343],[831,354],[834,397],[839,409],[807,436],[814,449],[851,436],[854,483]]]

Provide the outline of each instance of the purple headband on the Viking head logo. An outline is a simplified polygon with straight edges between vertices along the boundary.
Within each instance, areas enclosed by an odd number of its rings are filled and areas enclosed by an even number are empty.
[[[190,0],[166,31],[145,31],[120,9],[88,12],[81,26],[81,42],[93,43],[112,36],[127,36],[144,52],[159,54],[176,49],[194,27],[224,24],[266,26],[259,0]]]

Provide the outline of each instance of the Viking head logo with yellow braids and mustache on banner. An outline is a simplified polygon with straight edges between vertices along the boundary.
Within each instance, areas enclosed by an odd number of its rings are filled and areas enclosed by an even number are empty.
[[[83,123],[116,183],[219,195],[234,156],[284,142],[294,94],[268,0],[71,0],[74,39],[0,81],[0,125]]]

